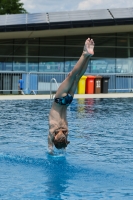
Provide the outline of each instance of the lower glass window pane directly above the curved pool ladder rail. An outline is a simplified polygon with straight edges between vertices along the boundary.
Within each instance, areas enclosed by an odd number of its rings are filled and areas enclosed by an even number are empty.
[[[64,59],[62,58],[40,58],[40,72],[64,72]]]

